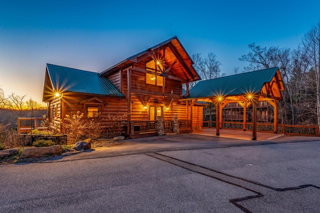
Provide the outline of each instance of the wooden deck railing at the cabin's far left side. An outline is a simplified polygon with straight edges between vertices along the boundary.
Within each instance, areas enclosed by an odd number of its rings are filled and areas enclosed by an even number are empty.
[[[18,133],[31,132],[32,129],[46,130],[47,122],[44,117],[18,117]]]

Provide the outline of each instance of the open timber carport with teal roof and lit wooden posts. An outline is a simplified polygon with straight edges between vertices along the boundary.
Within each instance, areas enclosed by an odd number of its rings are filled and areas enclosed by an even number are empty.
[[[273,130],[277,133],[277,102],[283,90],[278,67],[244,72],[234,75],[202,80],[190,90],[185,100],[192,114],[196,101],[212,102],[216,106],[216,135],[222,127],[222,108],[227,103],[237,102],[243,107],[243,130],[246,130],[246,108],[252,104],[252,140],[256,140],[256,115],[258,101],[267,101],[273,106]]]

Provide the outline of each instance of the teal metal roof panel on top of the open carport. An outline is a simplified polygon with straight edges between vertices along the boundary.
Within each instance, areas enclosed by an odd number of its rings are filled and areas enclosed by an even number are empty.
[[[186,99],[206,98],[217,95],[240,95],[248,92],[258,93],[261,91],[265,82],[270,82],[272,80],[277,70],[278,67],[272,67],[209,80],[202,80],[189,90],[189,95]]]

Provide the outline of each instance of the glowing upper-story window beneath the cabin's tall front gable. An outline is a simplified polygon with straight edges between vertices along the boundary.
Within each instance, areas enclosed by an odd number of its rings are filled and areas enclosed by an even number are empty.
[[[145,63],[145,69],[148,71],[153,71],[157,73],[161,73],[160,69],[163,69],[162,64],[159,61],[150,60]],[[146,73],[146,83],[162,86],[163,85],[163,77]]]

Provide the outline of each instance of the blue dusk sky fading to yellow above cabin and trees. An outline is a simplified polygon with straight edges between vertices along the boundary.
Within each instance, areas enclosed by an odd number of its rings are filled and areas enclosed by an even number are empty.
[[[247,45],[296,48],[319,0],[0,0],[0,87],[41,102],[45,64],[100,72],[177,35],[227,75]]]

